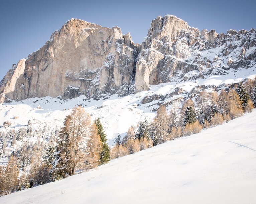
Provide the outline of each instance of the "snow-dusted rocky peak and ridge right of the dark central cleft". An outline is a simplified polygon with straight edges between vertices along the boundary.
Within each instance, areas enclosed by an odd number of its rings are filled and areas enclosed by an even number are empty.
[[[229,69],[256,66],[256,30],[201,32],[176,16],[158,16],[142,42],[135,87],[225,75]],[[193,71],[193,74],[190,72]]]

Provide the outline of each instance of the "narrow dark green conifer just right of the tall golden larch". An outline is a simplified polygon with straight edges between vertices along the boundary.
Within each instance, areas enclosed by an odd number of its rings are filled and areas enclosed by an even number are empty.
[[[107,135],[104,131],[103,125],[99,118],[95,119],[94,123],[98,128],[98,134],[100,135],[102,142],[102,152],[100,153],[100,165],[109,163],[110,160],[110,149],[107,144]]]

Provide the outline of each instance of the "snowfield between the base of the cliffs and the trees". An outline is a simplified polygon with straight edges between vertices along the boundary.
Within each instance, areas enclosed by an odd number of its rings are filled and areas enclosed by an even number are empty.
[[[190,74],[193,75],[193,73]],[[255,76],[256,69],[255,71],[241,69],[238,73],[230,72],[228,75],[216,75],[207,79],[151,85],[147,91],[124,97],[114,95],[107,99],[87,100],[86,96],[80,96],[68,101],[44,97],[4,103],[0,104],[0,125],[4,121],[9,121],[12,125],[9,128],[0,128],[0,131],[27,127],[28,120],[35,121],[33,128],[48,125],[56,129],[62,126],[70,109],[82,105],[91,114],[92,119],[98,117],[101,119],[109,145],[112,145],[118,133],[123,137],[130,126],[137,125],[144,118],[150,121],[161,104],[164,104],[167,109],[172,108],[174,104],[178,107],[186,98],[193,98],[198,90],[212,91],[216,87],[220,90],[232,83],[239,83],[246,78],[253,79]]]

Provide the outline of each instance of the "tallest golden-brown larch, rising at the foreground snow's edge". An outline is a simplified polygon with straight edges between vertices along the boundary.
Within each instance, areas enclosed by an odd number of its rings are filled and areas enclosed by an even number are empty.
[[[86,142],[91,134],[91,117],[82,107],[75,107],[68,115],[61,129],[52,172],[60,175],[74,175],[76,168],[85,169]],[[55,179],[55,178],[54,178]]]

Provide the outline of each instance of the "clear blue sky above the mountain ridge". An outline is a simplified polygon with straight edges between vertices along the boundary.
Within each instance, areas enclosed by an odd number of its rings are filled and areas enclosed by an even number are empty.
[[[199,30],[226,33],[229,29],[256,28],[255,8],[255,0],[4,0],[0,4],[0,78],[12,64],[42,47],[51,33],[71,18],[119,26],[123,33],[131,33],[134,42],[141,43],[157,16],[171,14]]]

